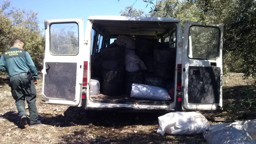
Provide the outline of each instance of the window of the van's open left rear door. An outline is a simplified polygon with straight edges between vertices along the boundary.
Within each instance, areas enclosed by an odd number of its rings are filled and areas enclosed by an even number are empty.
[[[50,25],[50,52],[53,55],[76,55],[79,49],[77,23]]]

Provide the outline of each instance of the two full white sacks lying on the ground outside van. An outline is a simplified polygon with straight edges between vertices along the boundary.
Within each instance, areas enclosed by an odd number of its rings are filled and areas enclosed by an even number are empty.
[[[203,134],[208,144],[256,144],[256,119],[209,125],[197,112],[172,112],[158,117],[162,136]]]

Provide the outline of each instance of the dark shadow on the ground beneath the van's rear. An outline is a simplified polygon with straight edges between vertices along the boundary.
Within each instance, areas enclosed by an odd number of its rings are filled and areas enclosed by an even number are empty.
[[[129,125],[152,125],[158,123],[161,113],[131,113],[113,111],[84,110],[81,107],[69,107],[63,115],[39,114],[43,124],[66,127],[88,125],[104,127],[124,127]]]

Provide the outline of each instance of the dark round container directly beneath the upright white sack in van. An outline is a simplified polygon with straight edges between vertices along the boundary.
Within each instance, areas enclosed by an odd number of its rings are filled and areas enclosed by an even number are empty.
[[[125,72],[125,81],[131,83],[140,83],[145,82],[145,73],[143,71],[138,72]]]

